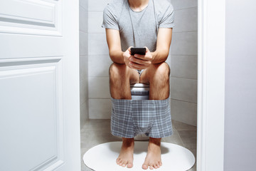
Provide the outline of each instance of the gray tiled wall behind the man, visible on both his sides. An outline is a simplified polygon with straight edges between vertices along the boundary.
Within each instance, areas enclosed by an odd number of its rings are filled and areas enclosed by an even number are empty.
[[[103,9],[111,0],[88,0],[89,118],[110,118],[111,102]],[[174,120],[196,125],[197,0],[172,0],[176,14],[171,53],[171,115]]]

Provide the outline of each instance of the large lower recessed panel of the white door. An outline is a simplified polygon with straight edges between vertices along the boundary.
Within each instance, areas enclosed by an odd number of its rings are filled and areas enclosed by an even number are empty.
[[[58,167],[63,164],[61,58],[15,63],[0,64],[0,158],[6,161],[0,170]]]

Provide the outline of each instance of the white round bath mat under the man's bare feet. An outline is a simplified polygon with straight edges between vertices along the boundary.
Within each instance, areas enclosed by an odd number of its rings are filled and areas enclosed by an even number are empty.
[[[137,142],[134,146],[134,166],[132,168],[121,167],[116,164],[122,142],[107,142],[96,145],[85,152],[83,161],[85,165],[95,171],[139,171],[146,157],[149,142]],[[186,171],[195,164],[193,153],[172,143],[161,142],[161,161],[163,165],[159,171]],[[149,169],[148,169],[149,170]]]

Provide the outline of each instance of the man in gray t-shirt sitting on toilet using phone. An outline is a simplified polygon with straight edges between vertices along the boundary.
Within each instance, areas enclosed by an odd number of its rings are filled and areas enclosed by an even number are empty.
[[[169,98],[169,56],[174,8],[167,0],[116,0],[104,11],[110,58],[110,93],[114,99],[132,99],[130,84],[150,85],[149,99]],[[131,56],[130,48],[146,47],[146,55]],[[133,166],[134,138],[122,138],[117,165]],[[161,167],[161,138],[149,138],[142,168]]]

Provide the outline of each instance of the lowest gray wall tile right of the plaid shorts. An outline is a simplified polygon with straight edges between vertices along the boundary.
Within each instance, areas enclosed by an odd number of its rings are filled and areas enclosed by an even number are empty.
[[[181,123],[197,125],[197,104],[171,99],[171,117]]]

